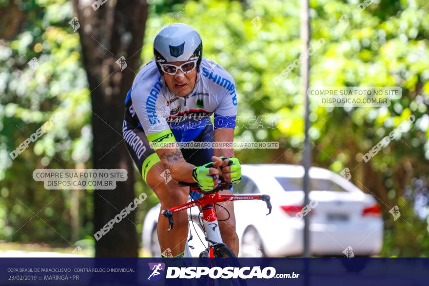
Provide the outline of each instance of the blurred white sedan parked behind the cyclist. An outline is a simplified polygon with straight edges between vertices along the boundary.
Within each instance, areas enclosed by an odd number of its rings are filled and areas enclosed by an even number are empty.
[[[235,201],[236,232],[240,239],[239,257],[280,257],[303,254],[304,215],[310,218],[312,255],[369,256],[380,252],[383,220],[377,201],[342,176],[326,169],[310,168],[310,204],[303,206],[304,168],[286,164],[242,165],[242,180],[234,193],[268,194],[270,215],[263,201]],[[143,247],[160,256],[156,226],[160,205],[152,208],[143,223]],[[198,221],[199,210],[191,209]],[[189,211],[188,211],[189,214]],[[194,228],[195,226],[195,228]],[[194,257],[205,242],[198,224],[190,221],[193,239],[189,245]]]

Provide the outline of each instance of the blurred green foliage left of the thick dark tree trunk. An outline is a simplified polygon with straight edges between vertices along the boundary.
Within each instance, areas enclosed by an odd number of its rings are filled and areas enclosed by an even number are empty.
[[[28,15],[20,34],[0,40],[0,239],[69,246],[70,191],[47,191],[32,173],[91,164],[90,97],[78,34],[68,24],[73,8],[65,0],[21,1],[19,7]],[[11,160],[9,153],[54,114],[60,116],[52,127]],[[81,230],[88,234],[92,200],[80,198]]]

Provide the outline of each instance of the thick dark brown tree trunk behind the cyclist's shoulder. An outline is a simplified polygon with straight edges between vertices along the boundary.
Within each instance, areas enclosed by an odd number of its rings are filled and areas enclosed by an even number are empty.
[[[94,169],[126,169],[115,190],[94,191],[94,233],[136,197],[133,165],[122,138],[124,100],[140,64],[148,5],[143,0],[74,0],[83,65],[92,100]],[[96,8],[96,11],[94,11]],[[77,25],[78,27],[78,25]],[[126,64],[119,66],[123,57]],[[135,257],[135,211],[96,241],[96,257]]]

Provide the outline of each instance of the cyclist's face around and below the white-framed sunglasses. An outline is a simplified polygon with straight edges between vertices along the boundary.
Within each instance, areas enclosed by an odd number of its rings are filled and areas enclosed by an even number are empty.
[[[184,61],[172,61],[168,62],[174,64],[176,66],[180,66],[181,64],[187,62]],[[164,80],[167,84],[168,88],[177,96],[185,97],[194,89],[195,80],[196,80],[196,68],[190,71],[187,74],[184,74],[181,70],[177,70],[176,75],[169,75],[167,73],[164,74]]]

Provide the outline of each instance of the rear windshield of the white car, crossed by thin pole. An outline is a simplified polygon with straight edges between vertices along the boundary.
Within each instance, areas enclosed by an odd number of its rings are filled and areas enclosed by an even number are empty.
[[[285,191],[302,191],[302,178],[275,177]],[[331,180],[311,179],[310,191],[346,191]]]

